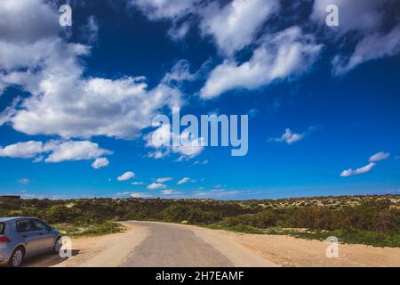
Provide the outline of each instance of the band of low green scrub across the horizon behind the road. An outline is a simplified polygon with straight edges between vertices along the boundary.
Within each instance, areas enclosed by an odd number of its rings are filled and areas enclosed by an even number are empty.
[[[38,216],[67,234],[118,232],[113,221],[154,220],[238,232],[292,234],[400,247],[400,195],[212,199],[0,199],[0,216]]]

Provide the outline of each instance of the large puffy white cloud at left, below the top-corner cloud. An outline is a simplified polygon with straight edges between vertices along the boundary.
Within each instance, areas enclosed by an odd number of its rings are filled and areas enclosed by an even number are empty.
[[[25,134],[59,134],[64,137],[107,135],[133,138],[151,126],[156,110],[180,105],[180,92],[166,85],[147,91],[142,78],[80,80],[60,74],[45,79],[42,96],[23,102],[9,122]]]

